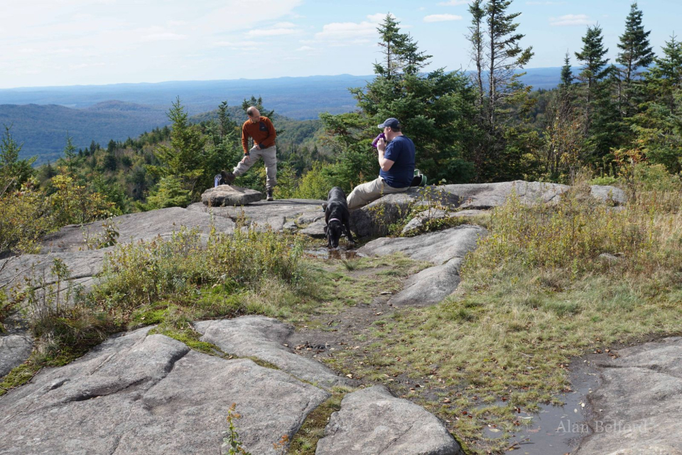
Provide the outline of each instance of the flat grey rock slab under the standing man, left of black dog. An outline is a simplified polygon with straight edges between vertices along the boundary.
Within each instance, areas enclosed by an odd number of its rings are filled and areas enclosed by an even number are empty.
[[[325,213],[322,211],[322,203],[322,200],[312,199],[275,199],[260,200],[244,207],[212,208],[196,203],[190,205],[188,210],[202,213],[211,211],[216,218],[229,218],[234,221],[243,217],[247,226],[254,226],[256,230],[271,229],[281,232],[288,221],[295,221],[301,225],[323,218]]]

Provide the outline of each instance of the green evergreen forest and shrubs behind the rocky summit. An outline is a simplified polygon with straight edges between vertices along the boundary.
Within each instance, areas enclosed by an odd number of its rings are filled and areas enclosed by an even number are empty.
[[[270,100],[251,97],[241,106],[222,102],[212,112],[191,117],[196,113],[177,98],[166,107],[168,126],[124,141],[92,138],[89,146],[80,146],[80,140],[76,146],[65,137],[63,156],[40,168],[23,158],[21,134],[6,124],[0,195],[14,198],[4,204],[21,205],[28,204],[27,195],[46,203],[60,191],[82,194],[77,215],[61,216],[59,223],[188,205],[212,186],[215,173],[242,156],[239,126],[248,105],[272,117],[278,129],[276,197],[324,198],[332,186],[350,191],[376,176],[379,168],[369,144],[387,117],[400,119],[416,144],[417,166],[431,182],[573,183],[579,174],[591,174],[600,183],[612,183],[627,181],[633,164],[678,176],[682,43],[671,36],[655,53],[643,13],[633,3],[617,43],[605,43],[602,29],[589,26],[580,48],[566,53],[558,85],[533,91],[523,79],[533,50],[517,32],[519,13],[511,11],[512,4],[472,1],[467,39],[476,69],[466,73],[426,72],[432,55],[386,16],[377,29],[382,54],[374,63],[374,77],[350,88],[350,112],[293,120],[269,110]],[[605,55],[613,45],[617,58],[610,61]],[[580,67],[578,74],[572,65]],[[59,110],[65,108],[51,108],[68,120],[67,111]],[[88,109],[93,122],[99,122],[102,109],[118,109],[126,119],[129,112],[146,108],[121,102]],[[101,122],[105,128],[107,122]],[[40,135],[38,123],[36,132]],[[236,183],[262,189],[262,166]],[[92,201],[99,205],[87,205]]]

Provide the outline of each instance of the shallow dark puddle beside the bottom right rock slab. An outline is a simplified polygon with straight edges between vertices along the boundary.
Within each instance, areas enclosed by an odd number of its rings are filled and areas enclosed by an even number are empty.
[[[585,370],[572,375],[573,392],[559,397],[563,406],[541,405],[537,414],[519,413],[519,421],[529,420],[531,424],[521,424],[509,439],[509,446],[514,450],[509,453],[524,455],[564,455],[574,451],[580,439],[588,436],[590,430],[585,423],[587,419],[587,397],[597,387],[597,375]],[[502,404],[503,406],[506,404]],[[532,417],[532,419],[529,419]],[[485,437],[497,438],[502,432],[486,432]]]

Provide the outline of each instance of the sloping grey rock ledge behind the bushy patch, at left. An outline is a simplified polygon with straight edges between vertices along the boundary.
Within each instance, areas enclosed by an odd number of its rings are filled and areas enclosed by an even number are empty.
[[[212,218],[208,213],[197,213],[180,207],[162,208],[143,213],[129,213],[112,218],[112,223],[119,232],[118,242],[136,242],[137,240],[152,240],[157,236],[171,237],[183,226],[197,228],[208,234],[212,226],[218,232],[232,232],[234,223],[224,218]],[[95,221],[86,225],[68,225],[45,237],[43,252],[76,252],[87,250],[83,230],[90,238],[100,235],[104,228],[102,221]]]

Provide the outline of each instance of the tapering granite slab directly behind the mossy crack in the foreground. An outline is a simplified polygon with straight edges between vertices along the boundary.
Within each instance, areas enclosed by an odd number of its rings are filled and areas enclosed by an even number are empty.
[[[242,316],[220,321],[194,324],[203,333],[201,341],[213,343],[226,353],[266,360],[296,378],[322,387],[352,385],[352,381],[335,375],[325,365],[297,355],[284,346],[293,327],[265,316]]]

